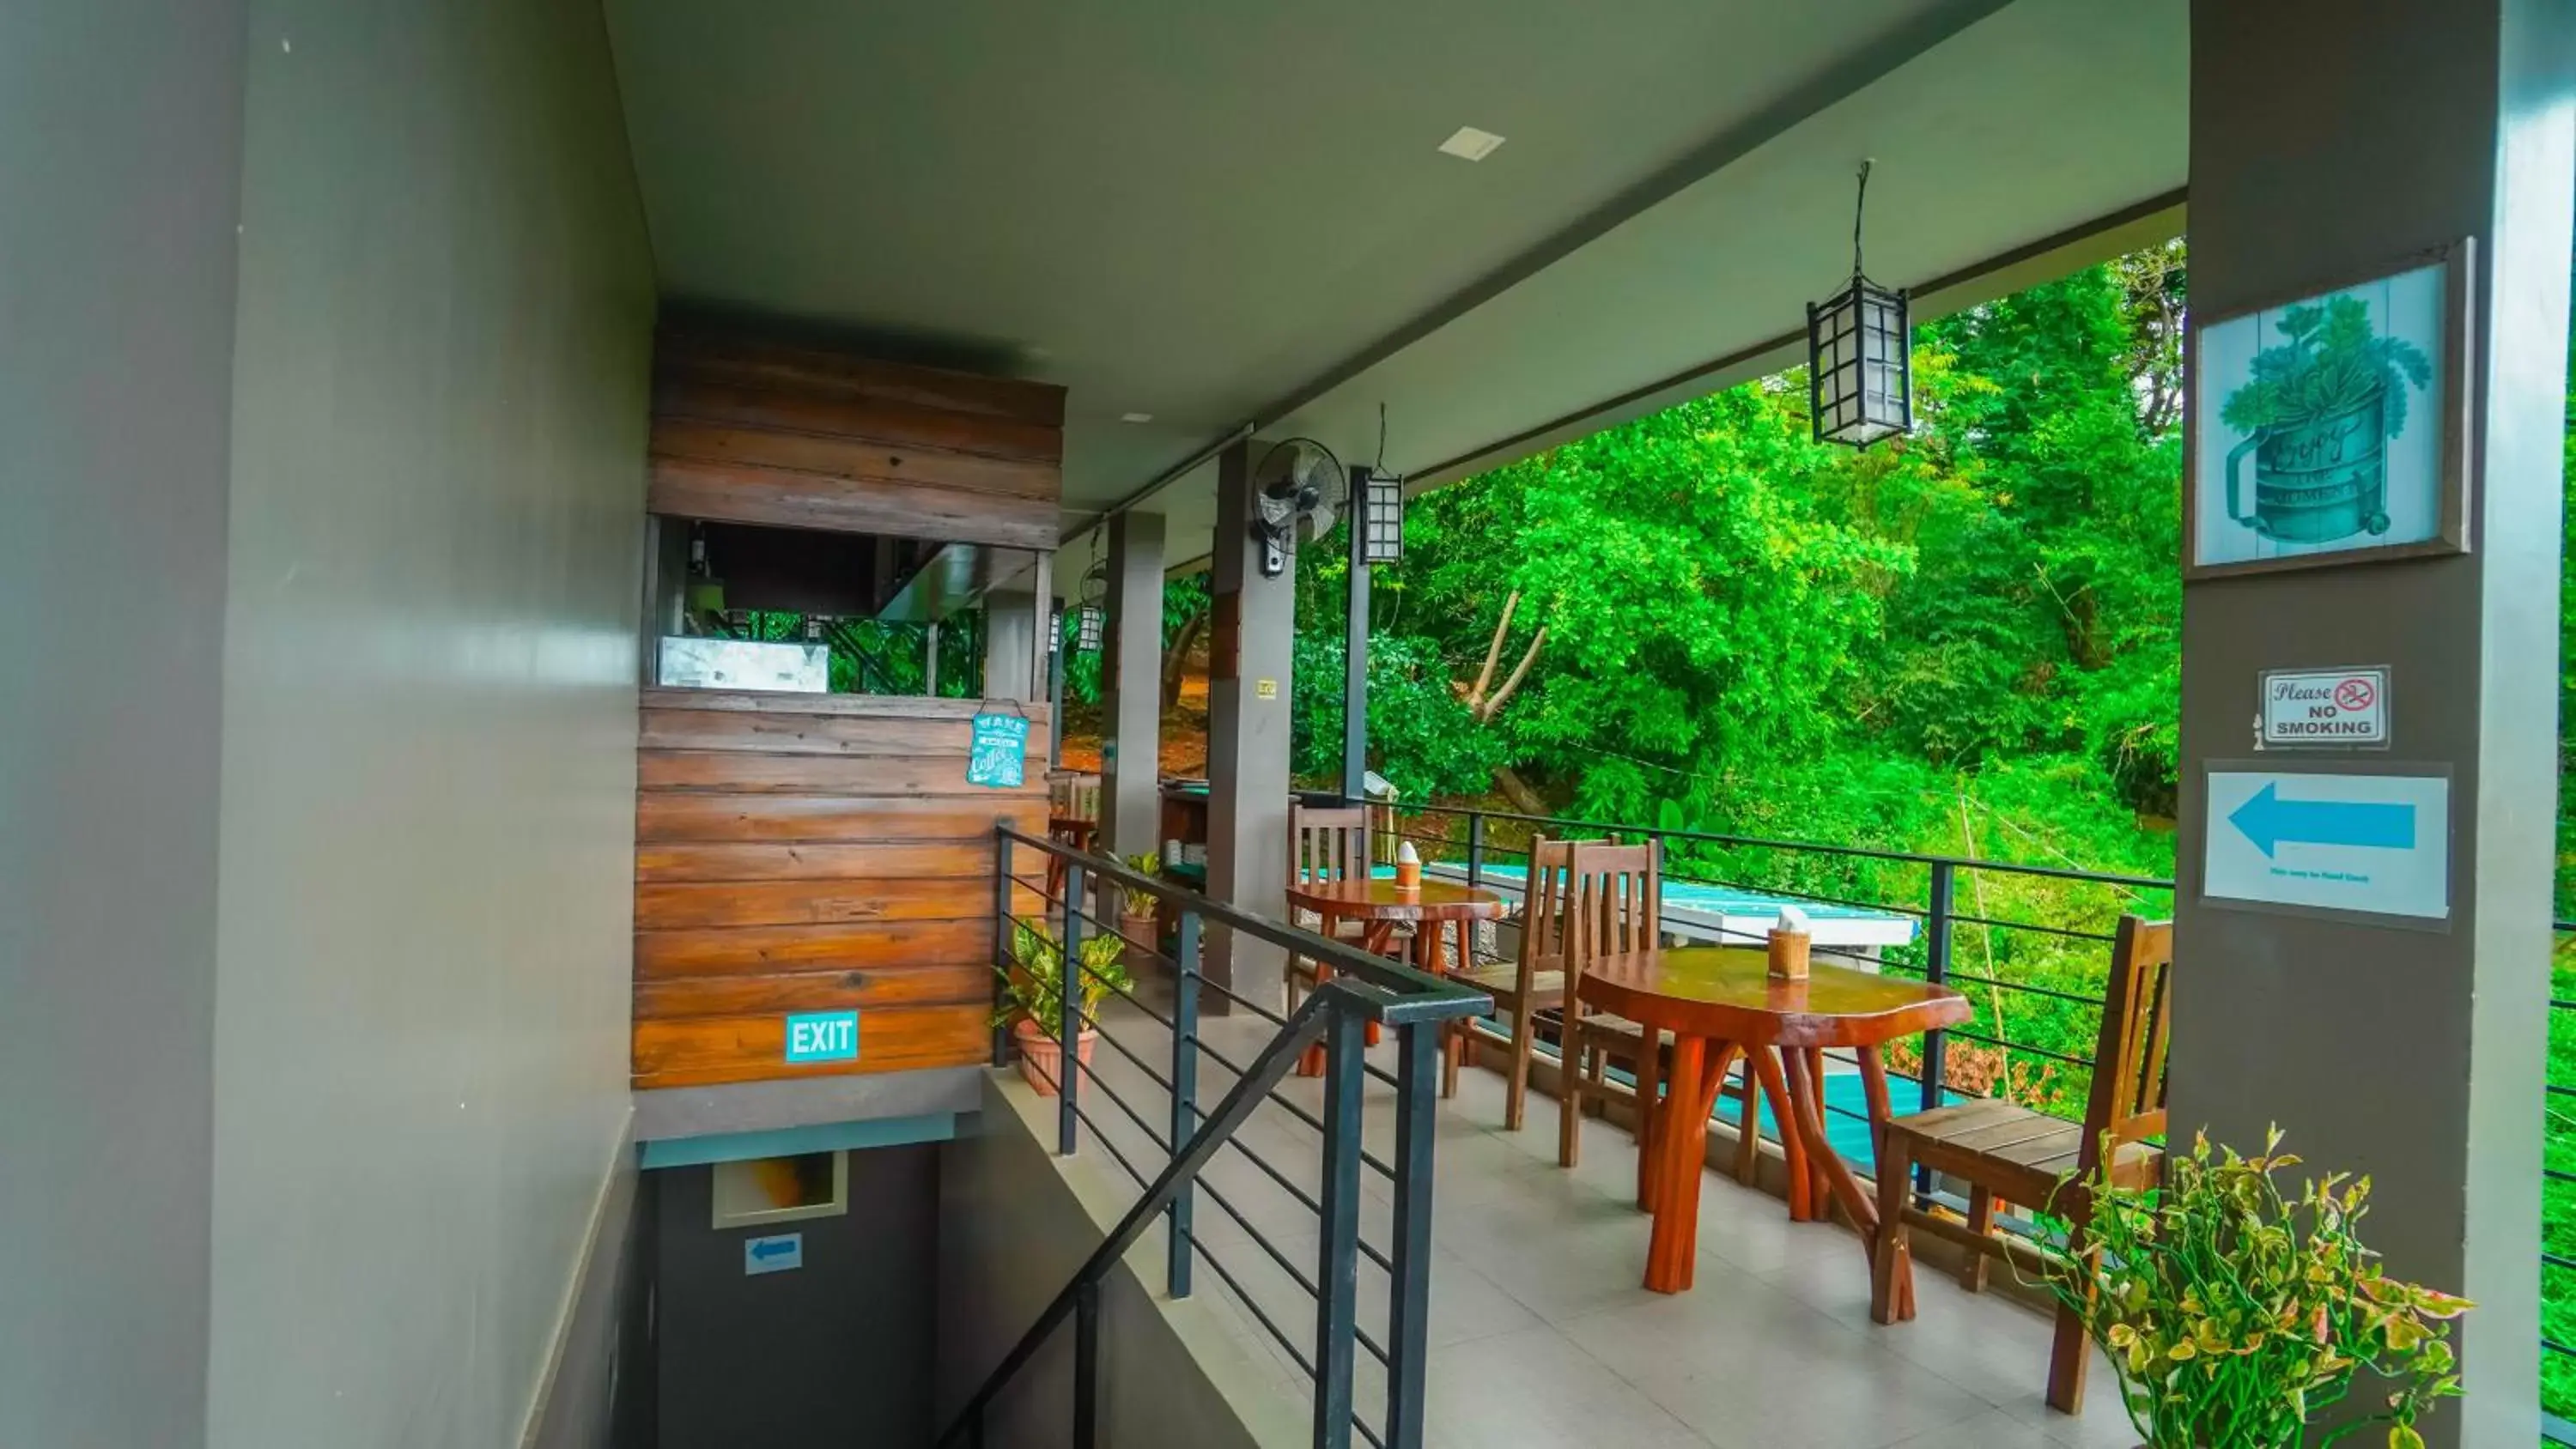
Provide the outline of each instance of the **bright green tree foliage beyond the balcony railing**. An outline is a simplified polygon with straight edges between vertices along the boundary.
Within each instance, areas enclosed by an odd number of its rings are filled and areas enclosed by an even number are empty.
[[[1406,713],[1373,703],[1370,764],[1471,795],[1492,762],[1584,818],[1896,849],[2027,826],[2040,860],[2169,870],[2138,816],[2174,800],[2179,306],[2177,242],[1935,322],[1919,427],[1870,453],[1811,443],[1790,373],[1417,499],[1376,579],[1370,679]],[[1301,558],[1319,667],[1345,577],[1332,543]],[[1440,708],[1515,595],[1504,667],[1548,631],[1522,690],[1492,723]],[[1301,659],[1298,713],[1301,772],[1337,775],[1337,667]]]

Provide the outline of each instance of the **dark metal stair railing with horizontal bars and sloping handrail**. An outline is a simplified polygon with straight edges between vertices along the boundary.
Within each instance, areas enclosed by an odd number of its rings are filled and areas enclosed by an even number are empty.
[[[1072,1444],[1090,1449],[1097,1441],[1100,1282],[1136,1238],[1162,1217],[1170,1228],[1164,1261],[1167,1292],[1172,1297],[1190,1297],[1193,1266],[1200,1261],[1226,1282],[1260,1328],[1314,1380],[1314,1444],[1319,1449],[1347,1449],[1352,1434],[1378,1449],[1419,1449],[1425,1434],[1422,1403],[1430,1331],[1432,1114],[1437,1112],[1440,1091],[1440,1035],[1455,1019],[1489,1014],[1492,999],[1481,991],[1360,952],[1345,942],[1211,901],[1195,891],[1128,870],[1115,860],[1082,854],[1059,842],[1023,834],[1007,824],[999,824],[994,836],[999,852],[994,870],[994,973],[1005,981],[1010,975],[1015,903],[1025,893],[1036,893],[1043,901],[1043,914],[1059,921],[1061,978],[1056,996],[1061,1009],[1056,1022],[1041,1022],[1061,1053],[1054,1073],[1056,1153],[1074,1156],[1082,1148],[1082,1130],[1090,1127],[1092,1143],[1136,1179],[1141,1197],[966,1398],[938,1444],[981,1444],[994,1398],[1066,1318],[1074,1320]],[[1061,865],[1064,893],[1051,893],[1043,865],[1038,875],[1020,875],[1015,862],[1023,857]],[[1170,906],[1177,916],[1175,950],[1162,952],[1159,939],[1139,942],[1126,937],[1110,921],[1092,914],[1087,901],[1092,898],[1092,888],[1103,883],[1115,885],[1126,898],[1144,896]],[[1231,983],[1213,981],[1200,970],[1203,921],[1234,932],[1236,939],[1270,942],[1329,965],[1332,978],[1306,996],[1293,1014],[1278,1014],[1242,996]],[[1133,952],[1167,968],[1172,988],[1170,1014],[1157,1011],[1133,986],[1121,988],[1113,978],[1082,965],[1082,942],[1090,932],[1118,934]],[[1108,1022],[1103,1022],[1108,1014],[1105,999],[1100,1014],[1084,1009],[1087,986],[1123,996],[1141,1019],[1170,1032],[1167,1073],[1157,1071],[1146,1055],[1108,1029]],[[1200,993],[1206,991],[1278,1027],[1252,1053],[1249,1063],[1236,1063],[1203,1040]],[[1373,1027],[1394,1035],[1394,1071],[1373,1066],[1365,1055]],[[1154,1127],[1149,1112],[1121,1096],[1105,1073],[1082,1066],[1084,1032],[1097,1032],[1103,1045],[1121,1053],[1144,1081],[1167,1096],[1162,1130]],[[1311,1050],[1321,1050],[1324,1055],[1321,1112],[1306,1112],[1278,1091],[1298,1058]],[[1005,1053],[1007,1035],[997,1027],[994,1066],[1005,1060]],[[1198,1109],[1200,1058],[1234,1073],[1234,1086],[1208,1112]],[[1368,1081],[1394,1086],[1396,1138],[1391,1163],[1381,1161],[1363,1143],[1360,1109]],[[1128,1127],[1164,1156],[1162,1171],[1149,1174],[1139,1168],[1115,1145],[1113,1132],[1103,1132],[1100,1120],[1084,1107],[1092,1094],[1115,1107]],[[1319,1192],[1309,1194],[1291,1174],[1244,1143],[1242,1127],[1265,1107],[1285,1112],[1321,1138]],[[1311,1277],[1239,1204],[1213,1181],[1206,1181],[1208,1163],[1229,1150],[1257,1166],[1267,1181],[1285,1189],[1288,1197],[1316,1215],[1319,1248]],[[1360,1235],[1363,1171],[1381,1174],[1394,1189],[1394,1233],[1386,1248]],[[1229,1269],[1211,1251],[1208,1241],[1193,1230],[1200,1194],[1226,1212],[1244,1230],[1247,1241],[1285,1271],[1298,1289],[1314,1297],[1314,1328],[1303,1349],[1296,1336],[1280,1328],[1270,1307],[1244,1289],[1236,1269]],[[1370,1336],[1358,1323],[1358,1274],[1363,1259],[1388,1277],[1386,1323],[1378,1336]],[[1355,1403],[1358,1354],[1363,1351],[1386,1367],[1386,1403],[1376,1426],[1368,1423]]]

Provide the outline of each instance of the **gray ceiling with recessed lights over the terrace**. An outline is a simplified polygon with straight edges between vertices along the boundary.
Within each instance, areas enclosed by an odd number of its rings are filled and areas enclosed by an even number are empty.
[[[1247,420],[1365,458],[1386,401],[1388,466],[1455,474],[1777,365],[1850,265],[1865,154],[1896,286],[2172,198],[2187,160],[2187,0],[608,21],[665,293],[1066,383],[1066,522]],[[1507,142],[1440,154],[1458,126]],[[1175,558],[1211,474],[1149,504]]]

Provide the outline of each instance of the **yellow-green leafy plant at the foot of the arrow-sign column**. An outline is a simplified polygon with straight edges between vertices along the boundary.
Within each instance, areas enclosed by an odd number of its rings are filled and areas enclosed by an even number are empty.
[[[2380,1271],[2354,1235],[2370,1179],[2331,1174],[2290,1199],[2275,1174],[2298,1158],[2277,1148],[2277,1127],[2259,1158],[2213,1158],[2197,1138],[2164,1186],[2069,1181],[2092,1199],[2097,1256],[2056,1259],[2048,1287],[2110,1356],[2146,1449],[2295,1449],[2362,1369],[2388,1408],[2318,1444],[2385,1428],[2388,1449],[2421,1449],[2416,1418],[2460,1392],[2450,1320],[2470,1302]]]

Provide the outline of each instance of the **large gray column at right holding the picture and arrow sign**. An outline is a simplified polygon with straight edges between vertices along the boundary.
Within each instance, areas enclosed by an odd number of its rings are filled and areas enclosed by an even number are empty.
[[[2251,1150],[2280,1122],[2311,1168],[2370,1174],[2388,1269],[2478,1300],[2468,1398],[2427,1423],[2439,1446],[2537,1434],[2571,39],[2558,0],[2192,3],[2195,322],[2476,239],[2455,378],[2470,553],[2205,579],[2182,625],[2174,1140],[2208,1127]],[[2202,896],[2210,831],[2233,829],[2208,818],[2202,775],[2251,752],[2257,672],[2342,664],[2393,672],[2378,759],[2450,772],[2437,929]]]

